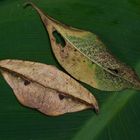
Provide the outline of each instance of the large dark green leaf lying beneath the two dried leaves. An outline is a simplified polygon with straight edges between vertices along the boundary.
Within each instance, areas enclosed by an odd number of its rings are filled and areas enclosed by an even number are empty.
[[[140,75],[139,0],[33,0],[63,23],[96,33],[121,61]],[[0,1],[0,59],[32,60],[61,68],[49,37],[32,8],[21,0]],[[62,68],[61,68],[62,69]],[[57,118],[21,106],[0,78],[0,139],[2,140],[138,140],[138,91],[96,93],[100,113],[87,110]],[[95,133],[94,133],[95,131]]]

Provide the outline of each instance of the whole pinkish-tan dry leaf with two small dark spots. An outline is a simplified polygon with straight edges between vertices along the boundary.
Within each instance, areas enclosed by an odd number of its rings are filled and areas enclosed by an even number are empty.
[[[0,71],[17,99],[27,107],[57,116],[99,107],[95,97],[54,66],[22,60],[0,61]]]

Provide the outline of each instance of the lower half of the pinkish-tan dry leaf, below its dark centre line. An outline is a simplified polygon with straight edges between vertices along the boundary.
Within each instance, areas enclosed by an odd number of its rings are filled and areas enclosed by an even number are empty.
[[[62,93],[27,81],[9,72],[3,71],[2,75],[21,104],[35,108],[46,115],[56,116],[91,108],[91,106],[63,96]]]

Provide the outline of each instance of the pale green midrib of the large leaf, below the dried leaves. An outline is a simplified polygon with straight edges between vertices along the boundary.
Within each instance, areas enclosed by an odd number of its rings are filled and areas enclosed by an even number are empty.
[[[128,91],[128,90],[127,90]],[[93,140],[98,137],[105,126],[109,124],[117,113],[133,97],[135,91],[113,94],[104,104],[98,116],[89,119],[72,140]],[[117,104],[117,105],[116,105]],[[113,109],[113,110],[112,110]],[[86,135],[85,135],[86,134]],[[88,137],[87,137],[88,136]]]

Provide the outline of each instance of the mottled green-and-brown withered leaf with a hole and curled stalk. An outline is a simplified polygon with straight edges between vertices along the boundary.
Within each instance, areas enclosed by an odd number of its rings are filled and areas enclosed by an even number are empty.
[[[32,2],[26,5],[32,5],[40,15],[55,57],[74,78],[100,90],[140,89],[135,71],[116,59],[94,33],[64,25]]]

